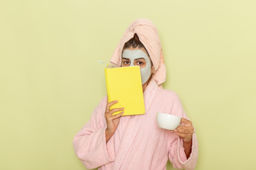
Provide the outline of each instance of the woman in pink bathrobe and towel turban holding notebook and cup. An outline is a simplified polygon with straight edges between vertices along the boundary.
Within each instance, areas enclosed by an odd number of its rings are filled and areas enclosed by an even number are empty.
[[[168,159],[177,169],[193,170],[198,144],[179,97],[162,88],[166,68],[157,28],[138,19],[125,31],[110,62],[117,66],[139,65],[146,113],[122,116],[118,101],[104,97],[88,123],[74,137],[76,155],[86,168],[100,170],[165,170]],[[123,111],[122,111],[123,110]],[[122,111],[117,115],[112,115]],[[159,128],[156,113],[182,117],[174,131]]]

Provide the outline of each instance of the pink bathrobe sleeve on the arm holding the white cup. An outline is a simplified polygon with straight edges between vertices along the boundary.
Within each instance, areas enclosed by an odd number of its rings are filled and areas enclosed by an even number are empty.
[[[179,97],[176,93],[173,92],[173,108],[171,110],[172,115],[177,115],[185,119],[189,119],[186,116],[186,113],[182,107]],[[175,169],[185,169],[185,170],[194,170],[197,159],[198,159],[198,142],[195,135],[195,130],[192,135],[192,148],[189,159],[186,158],[184,152],[183,140],[177,135],[170,135],[169,137],[169,160],[173,163],[173,168]]]

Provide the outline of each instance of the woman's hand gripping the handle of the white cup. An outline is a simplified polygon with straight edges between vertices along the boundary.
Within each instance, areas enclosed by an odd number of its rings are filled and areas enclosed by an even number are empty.
[[[179,137],[182,137],[183,141],[186,143],[191,142],[194,127],[192,122],[188,119],[182,118],[180,123],[184,123],[184,126],[179,126],[175,130],[171,130],[171,133],[176,132]]]

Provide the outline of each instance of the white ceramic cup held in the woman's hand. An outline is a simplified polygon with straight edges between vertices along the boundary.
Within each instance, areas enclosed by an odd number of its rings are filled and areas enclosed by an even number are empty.
[[[174,130],[180,125],[181,117],[166,113],[157,113],[157,124],[160,128]]]

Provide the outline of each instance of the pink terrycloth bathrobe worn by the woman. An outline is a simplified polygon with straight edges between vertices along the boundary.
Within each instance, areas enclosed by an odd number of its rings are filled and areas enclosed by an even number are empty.
[[[76,155],[88,169],[99,170],[166,170],[169,160],[173,168],[193,170],[198,157],[198,143],[193,134],[189,159],[183,141],[175,133],[157,126],[156,113],[168,113],[188,119],[179,97],[157,86],[152,79],[144,91],[146,113],[122,116],[115,134],[106,144],[104,117],[107,97],[94,109],[90,121],[74,137]]]

